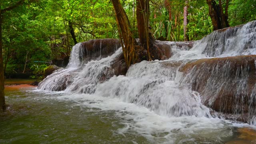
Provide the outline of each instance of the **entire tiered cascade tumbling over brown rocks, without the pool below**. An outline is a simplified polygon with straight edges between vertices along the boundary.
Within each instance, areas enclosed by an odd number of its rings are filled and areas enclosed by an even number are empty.
[[[82,48],[77,44],[67,68],[48,76],[38,89],[118,98],[168,117],[210,118],[211,108],[242,116],[248,113],[253,124],[255,112],[250,109],[255,108],[256,96],[255,79],[251,76],[255,77],[252,70],[255,70],[256,56],[245,55],[256,54],[255,27],[253,21],[214,31],[194,42],[191,49],[165,42],[171,47],[169,60],[134,64],[126,76],[114,76],[111,67],[122,53],[121,48],[106,58],[82,61]],[[229,101],[235,104],[230,105]]]

